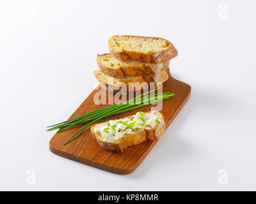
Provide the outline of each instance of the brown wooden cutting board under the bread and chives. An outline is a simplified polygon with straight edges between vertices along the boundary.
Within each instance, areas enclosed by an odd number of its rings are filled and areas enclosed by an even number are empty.
[[[191,87],[184,82],[175,80],[168,73],[170,78],[167,82],[163,84],[163,92],[174,92],[175,96],[170,99],[163,101],[163,108],[160,111],[166,122],[166,128],[170,125],[172,120],[180,112],[182,107],[188,101]],[[77,108],[70,118],[76,117],[86,112],[90,112],[97,108],[102,108],[106,105],[95,105],[93,103],[93,96],[99,89],[96,88],[92,93],[86,98],[83,103]],[[108,94],[107,94],[108,95]],[[155,105],[156,106],[156,105]],[[125,117],[127,115],[133,115],[136,112],[148,112],[152,105],[144,106],[143,108],[138,108],[132,110],[131,112],[122,113],[120,115],[115,115],[100,120],[103,122],[109,119],[118,119]],[[76,131],[78,131],[82,126],[77,126],[76,128],[70,128],[61,133],[56,133],[50,141],[49,148],[51,152],[57,154],[61,157],[66,157],[79,163],[87,164],[102,170],[110,171],[112,173],[118,174],[128,174],[132,173],[145,159],[148,152],[154,147],[157,141],[154,142],[143,142],[139,145],[133,147],[128,147],[127,151],[124,153],[109,152],[102,149],[100,145],[93,139],[90,126],[84,129],[79,135],[77,135],[72,141],[63,146],[63,143],[70,138]],[[166,136],[166,135],[163,135]],[[161,138],[160,138],[161,140]]]

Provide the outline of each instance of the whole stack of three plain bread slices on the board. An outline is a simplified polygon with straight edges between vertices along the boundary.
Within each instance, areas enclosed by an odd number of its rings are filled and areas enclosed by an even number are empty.
[[[170,59],[178,52],[168,40],[143,36],[113,36],[109,54],[97,56],[97,80],[111,91],[157,87],[168,80]],[[132,89],[132,90],[130,90]]]

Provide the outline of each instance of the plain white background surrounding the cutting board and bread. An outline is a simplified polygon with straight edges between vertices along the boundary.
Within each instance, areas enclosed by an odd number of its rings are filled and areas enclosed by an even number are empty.
[[[0,1],[0,189],[256,190],[255,6],[234,0]],[[170,40],[179,51],[172,75],[192,87],[188,103],[129,175],[52,154],[54,133],[45,132],[90,94],[95,58],[108,52],[115,34]]]

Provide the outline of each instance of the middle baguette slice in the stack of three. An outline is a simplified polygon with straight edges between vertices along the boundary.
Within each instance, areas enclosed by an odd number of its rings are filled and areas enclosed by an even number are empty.
[[[104,73],[113,77],[156,75],[170,64],[170,61],[158,64],[131,60],[122,62],[110,53],[98,55],[96,61]]]

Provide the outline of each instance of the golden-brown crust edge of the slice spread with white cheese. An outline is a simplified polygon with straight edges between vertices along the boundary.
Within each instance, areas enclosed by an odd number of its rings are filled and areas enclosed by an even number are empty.
[[[93,131],[93,128],[95,126],[97,126],[97,124],[91,126],[91,133],[93,138],[97,140],[97,142],[103,149],[106,149],[111,152],[125,152],[125,150],[127,150],[127,147],[138,145],[141,142],[145,142],[147,140],[150,140],[150,141],[159,140],[159,138],[161,138],[166,128],[164,117],[161,114],[160,123],[157,124],[155,128],[143,129],[132,135],[126,135],[120,138],[117,142],[108,142],[108,141],[101,140],[100,136],[97,135],[95,131]]]

